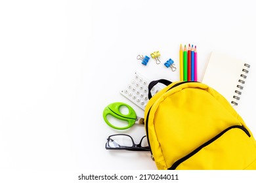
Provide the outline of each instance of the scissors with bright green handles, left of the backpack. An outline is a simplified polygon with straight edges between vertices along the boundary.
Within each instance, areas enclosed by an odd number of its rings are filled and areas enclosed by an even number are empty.
[[[120,112],[120,107],[123,107],[123,106],[128,108],[129,110],[128,114],[122,114]],[[108,121],[107,119],[108,115],[114,116],[119,120],[128,122],[128,125],[125,127],[117,127],[116,125],[113,125]],[[137,118],[135,110],[133,110],[131,106],[127,105],[126,103],[120,103],[120,102],[111,103],[106,108],[104,108],[103,118],[106,124],[108,124],[110,127],[113,127],[114,129],[128,129],[129,127],[133,126],[136,122],[138,124],[144,124],[144,118]]]

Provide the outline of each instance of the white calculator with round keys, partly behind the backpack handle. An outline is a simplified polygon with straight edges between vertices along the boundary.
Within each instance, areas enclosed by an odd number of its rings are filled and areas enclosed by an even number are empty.
[[[150,80],[136,72],[120,93],[144,110],[148,103],[148,84]],[[158,86],[154,86],[151,90],[152,96],[160,90]]]

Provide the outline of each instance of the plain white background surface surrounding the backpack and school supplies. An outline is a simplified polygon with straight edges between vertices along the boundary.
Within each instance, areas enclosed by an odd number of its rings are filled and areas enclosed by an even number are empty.
[[[199,80],[215,50],[251,63],[238,112],[256,133],[254,7],[247,0],[0,1],[0,169],[155,170],[148,152],[105,150],[109,135],[139,142],[145,131],[111,129],[102,111],[122,101],[143,116],[119,91],[135,71],[179,80],[163,63],[172,58],[179,68],[180,44],[197,46]],[[136,59],[157,50],[160,65]]]

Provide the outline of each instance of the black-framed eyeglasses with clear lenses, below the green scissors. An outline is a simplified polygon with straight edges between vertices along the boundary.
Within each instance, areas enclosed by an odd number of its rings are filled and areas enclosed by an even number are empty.
[[[142,137],[139,144],[135,144],[133,138],[126,134],[110,135],[106,142],[107,150],[131,150],[131,151],[150,151],[146,135]]]

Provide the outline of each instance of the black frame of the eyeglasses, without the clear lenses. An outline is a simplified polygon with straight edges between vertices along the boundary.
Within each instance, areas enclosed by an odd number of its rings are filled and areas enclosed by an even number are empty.
[[[109,146],[109,142],[110,142],[110,140],[112,140],[111,137],[113,137],[113,136],[121,136],[121,135],[130,137],[130,138],[131,138],[131,141],[133,142],[133,146],[120,146],[119,144],[117,144],[118,147],[115,147],[115,148],[110,147],[110,146]],[[144,138],[146,138],[146,135],[144,135],[144,136],[140,139],[139,144],[135,144],[135,142],[133,141],[133,137],[131,137],[130,135],[127,135],[127,134],[115,134],[115,135],[110,135],[110,136],[108,137],[108,139],[107,139],[107,142],[106,142],[106,146],[105,146],[105,147],[106,147],[107,150],[150,151],[150,147],[149,147],[149,146],[146,146],[146,147],[142,147],[142,146],[141,146],[141,143],[142,143],[142,141],[143,141]],[[146,141],[147,141],[147,139],[146,139]],[[112,140],[112,142],[114,142],[114,141]]]

